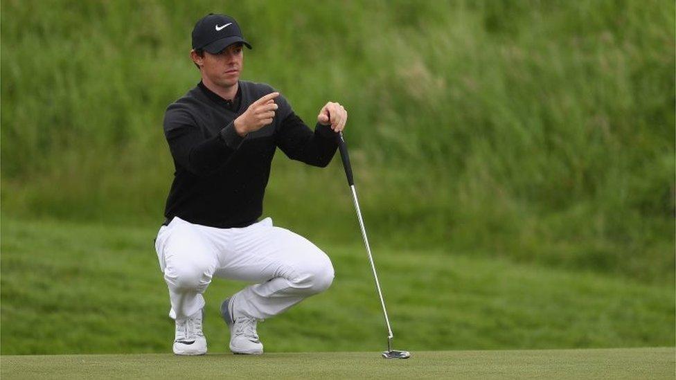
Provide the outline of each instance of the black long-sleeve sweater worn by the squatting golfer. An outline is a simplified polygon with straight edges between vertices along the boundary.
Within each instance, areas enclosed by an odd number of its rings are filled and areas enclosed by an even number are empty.
[[[173,102],[164,116],[164,134],[176,171],[164,215],[218,228],[243,227],[263,213],[263,195],[276,147],[290,159],[324,167],[337,141],[328,125],[314,132],[278,96],[272,124],[242,138],[234,120],[261,96],[267,84],[240,80],[233,101],[202,82]]]

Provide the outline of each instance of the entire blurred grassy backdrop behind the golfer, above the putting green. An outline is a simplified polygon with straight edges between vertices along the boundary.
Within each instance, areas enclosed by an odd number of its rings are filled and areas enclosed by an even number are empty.
[[[2,354],[168,352],[152,239],[190,31],[232,15],[267,82],[346,140],[409,350],[675,345],[673,1],[12,1],[0,9]],[[265,215],[324,249],[327,293],[267,350],[379,350],[339,159],[278,152]],[[207,291],[211,350],[226,350]],[[355,320],[357,318],[358,320]],[[399,332],[399,333],[398,333]]]

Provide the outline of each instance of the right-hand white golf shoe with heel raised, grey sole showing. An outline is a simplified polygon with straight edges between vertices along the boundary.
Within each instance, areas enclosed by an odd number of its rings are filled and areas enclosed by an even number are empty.
[[[263,343],[258,340],[256,318],[234,317],[233,298],[227,298],[221,304],[221,315],[230,328],[230,350],[233,354],[263,354]]]

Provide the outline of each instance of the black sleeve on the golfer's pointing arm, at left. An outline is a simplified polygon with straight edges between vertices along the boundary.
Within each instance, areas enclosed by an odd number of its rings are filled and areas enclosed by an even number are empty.
[[[171,107],[164,117],[164,135],[174,161],[197,176],[206,176],[225,165],[244,140],[235,132],[233,123],[206,138],[186,111]]]

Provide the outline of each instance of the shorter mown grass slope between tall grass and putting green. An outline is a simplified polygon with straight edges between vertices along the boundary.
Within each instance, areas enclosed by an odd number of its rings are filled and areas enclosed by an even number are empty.
[[[1,354],[170,352],[157,226],[3,217],[1,227]],[[356,227],[348,245],[319,240],[335,282],[260,323],[266,352],[382,350],[384,321]],[[378,242],[373,253],[395,343],[413,352],[675,345],[670,285]],[[220,301],[243,286],[216,278],[206,291],[212,352],[229,339]]]

